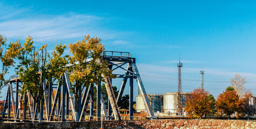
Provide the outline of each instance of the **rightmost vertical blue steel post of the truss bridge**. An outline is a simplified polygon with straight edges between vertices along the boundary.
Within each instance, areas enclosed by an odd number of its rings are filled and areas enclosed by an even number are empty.
[[[133,76],[130,77],[130,106],[129,106],[130,120],[133,118]]]

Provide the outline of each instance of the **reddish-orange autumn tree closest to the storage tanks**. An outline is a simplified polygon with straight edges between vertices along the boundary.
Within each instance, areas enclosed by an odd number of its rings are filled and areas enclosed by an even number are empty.
[[[203,88],[194,89],[186,101],[185,110],[188,118],[199,118],[214,110],[215,99]]]

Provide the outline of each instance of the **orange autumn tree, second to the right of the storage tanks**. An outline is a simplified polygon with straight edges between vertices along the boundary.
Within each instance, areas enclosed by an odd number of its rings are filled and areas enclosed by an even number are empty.
[[[227,88],[223,93],[219,94],[215,105],[218,115],[230,119],[231,114],[239,111],[238,107],[241,106],[241,102],[239,101],[237,92],[235,90],[228,90]]]

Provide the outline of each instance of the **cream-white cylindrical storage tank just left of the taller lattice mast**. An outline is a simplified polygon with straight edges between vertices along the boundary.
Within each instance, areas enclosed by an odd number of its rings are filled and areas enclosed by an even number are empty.
[[[176,113],[177,112],[177,94],[168,92],[164,94],[164,112]]]

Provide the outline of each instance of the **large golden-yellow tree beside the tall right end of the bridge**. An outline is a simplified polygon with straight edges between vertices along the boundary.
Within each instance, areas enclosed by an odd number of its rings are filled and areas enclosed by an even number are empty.
[[[71,92],[75,96],[75,109],[78,111],[79,96],[83,87],[93,87],[104,81],[103,77],[113,77],[112,70],[108,69],[108,63],[102,60],[104,45],[99,38],[85,36],[82,41],[69,44],[69,71],[70,82],[72,83]]]

